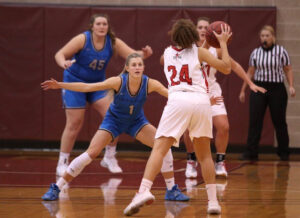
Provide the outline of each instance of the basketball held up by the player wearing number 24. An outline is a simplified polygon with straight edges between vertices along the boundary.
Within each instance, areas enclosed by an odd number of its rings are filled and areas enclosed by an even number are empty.
[[[215,36],[215,34],[213,33],[213,31],[220,34],[222,32],[221,24],[223,24],[223,26],[224,26],[227,23],[225,23],[224,21],[215,21],[215,22],[211,23],[207,27],[207,30],[206,30],[206,34],[205,34],[206,42],[214,48],[220,48],[220,43],[219,43],[217,37]],[[232,31],[231,27],[230,27],[230,31]],[[231,42],[231,40],[232,40],[232,35],[228,39],[227,45]]]

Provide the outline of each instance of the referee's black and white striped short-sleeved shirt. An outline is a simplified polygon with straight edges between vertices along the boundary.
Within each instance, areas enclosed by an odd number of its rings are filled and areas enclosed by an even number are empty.
[[[287,51],[280,45],[272,49],[259,47],[251,53],[249,66],[255,67],[254,81],[277,82],[284,81],[283,67],[290,65]]]

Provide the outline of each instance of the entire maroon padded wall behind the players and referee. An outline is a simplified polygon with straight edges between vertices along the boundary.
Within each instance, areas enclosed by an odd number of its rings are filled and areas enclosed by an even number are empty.
[[[60,140],[65,115],[60,91],[44,92],[40,83],[51,77],[62,80],[63,70],[54,60],[55,53],[72,37],[88,29],[94,13],[110,16],[117,37],[135,49],[150,45],[154,54],[145,60],[145,74],[167,85],[159,58],[170,44],[167,34],[178,18],[207,16],[228,22],[234,32],[229,47],[231,56],[245,70],[251,51],[259,45],[258,32],[265,24],[276,24],[276,8],[166,8],[166,7],[71,7],[22,6],[0,4],[0,138]],[[107,77],[118,75],[124,60],[113,57]],[[230,121],[231,144],[245,144],[248,129],[248,99],[241,104],[238,94],[242,80],[232,73],[218,75]],[[157,126],[166,99],[151,94],[145,114]],[[78,140],[89,141],[101,117],[88,110]],[[273,127],[267,116],[262,144],[273,144]],[[120,142],[133,142],[122,135]]]

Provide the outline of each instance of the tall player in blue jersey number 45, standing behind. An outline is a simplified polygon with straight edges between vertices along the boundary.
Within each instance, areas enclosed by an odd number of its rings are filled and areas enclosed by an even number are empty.
[[[96,14],[91,17],[90,30],[72,38],[55,55],[57,64],[64,70],[65,82],[101,82],[105,80],[105,69],[112,55],[126,59],[129,54],[139,53],[145,59],[152,54],[152,49],[146,46],[141,51],[135,51],[125,42],[117,38],[111,30],[107,15]],[[66,113],[66,125],[61,137],[60,155],[56,174],[62,176],[69,163],[70,152],[74,147],[76,137],[82,127],[86,103],[88,102],[104,117],[110,99],[106,91],[80,93],[62,90],[63,104]],[[115,159],[116,141],[106,147],[103,167],[108,167],[112,173],[120,173]]]

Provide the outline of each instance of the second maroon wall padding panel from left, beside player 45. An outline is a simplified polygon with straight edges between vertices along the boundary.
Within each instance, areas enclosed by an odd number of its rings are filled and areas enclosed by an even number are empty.
[[[63,69],[60,68],[54,59],[55,53],[63,47],[71,38],[88,28],[90,19],[89,8],[87,7],[45,7],[44,8],[44,76],[43,79],[51,77],[61,81]],[[44,139],[60,139],[65,123],[65,113],[62,109],[61,90],[44,92]],[[88,114],[86,114],[88,118]],[[78,140],[88,140],[89,122],[85,123],[78,136]]]

